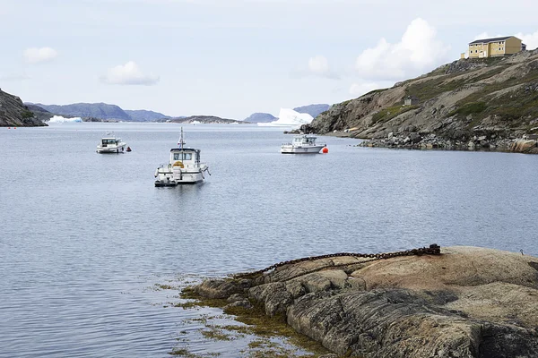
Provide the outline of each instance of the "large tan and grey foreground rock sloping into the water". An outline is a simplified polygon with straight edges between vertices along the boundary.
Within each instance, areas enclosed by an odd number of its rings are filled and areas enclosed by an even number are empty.
[[[438,256],[309,260],[198,294],[262,304],[335,354],[538,357],[538,259],[447,247]]]

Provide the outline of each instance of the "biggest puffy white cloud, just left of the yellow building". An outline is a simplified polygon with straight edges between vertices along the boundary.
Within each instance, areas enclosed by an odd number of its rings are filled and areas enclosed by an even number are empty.
[[[381,38],[376,47],[364,50],[355,63],[364,79],[403,80],[447,62],[450,47],[436,38],[437,31],[421,18],[413,20],[400,42]]]

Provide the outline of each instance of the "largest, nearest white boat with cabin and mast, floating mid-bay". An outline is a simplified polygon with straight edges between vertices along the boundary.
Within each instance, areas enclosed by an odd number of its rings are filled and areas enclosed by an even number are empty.
[[[209,166],[200,162],[200,149],[186,148],[183,141],[183,128],[178,148],[170,149],[168,164],[163,164],[155,171],[155,186],[176,186],[178,184],[195,184],[203,182],[204,173],[209,173]]]

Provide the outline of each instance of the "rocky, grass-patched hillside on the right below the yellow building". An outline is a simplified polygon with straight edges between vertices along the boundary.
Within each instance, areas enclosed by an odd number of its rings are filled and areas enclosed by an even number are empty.
[[[404,106],[404,98],[416,99]],[[391,89],[339,103],[306,129],[379,139],[393,132],[452,141],[538,133],[538,50],[462,59]]]

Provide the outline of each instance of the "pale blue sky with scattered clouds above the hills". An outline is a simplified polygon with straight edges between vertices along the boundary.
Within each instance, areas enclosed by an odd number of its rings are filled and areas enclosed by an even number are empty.
[[[476,38],[538,47],[538,2],[0,0],[0,88],[25,102],[244,119],[430,72]]]

